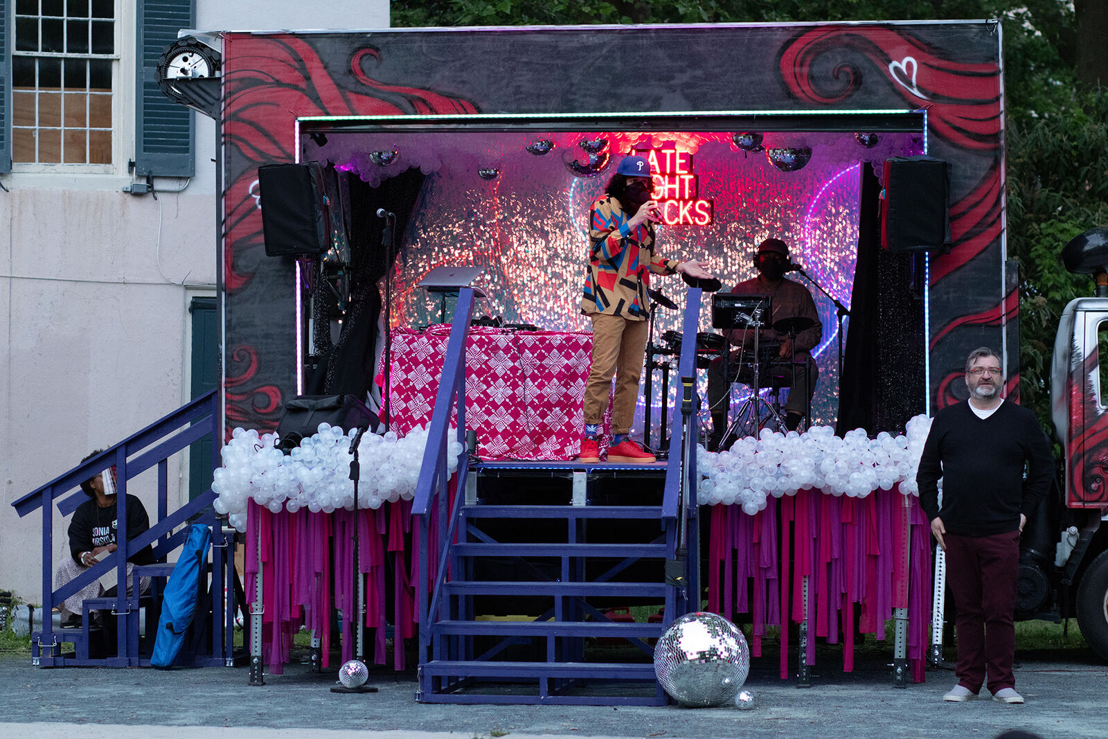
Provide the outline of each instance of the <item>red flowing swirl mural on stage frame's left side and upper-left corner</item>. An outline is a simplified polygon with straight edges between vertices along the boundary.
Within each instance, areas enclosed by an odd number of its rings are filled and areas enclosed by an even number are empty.
[[[320,49],[289,34],[225,38],[224,287],[255,311],[264,311],[276,299],[252,281],[267,258],[254,184],[257,167],[296,160],[297,117],[478,112],[473,103],[460,97],[373,79],[372,66],[381,58],[377,49],[342,53],[347,63],[336,66],[334,60],[340,54],[327,53],[328,38],[314,42]],[[226,320],[228,341],[236,346],[224,380],[227,425],[274,429],[284,399],[280,388],[267,383],[259,356],[269,366],[291,363],[294,328],[289,327],[289,346],[258,347],[256,337],[249,336],[249,325],[237,324],[233,310]],[[232,374],[236,367],[240,370]]]

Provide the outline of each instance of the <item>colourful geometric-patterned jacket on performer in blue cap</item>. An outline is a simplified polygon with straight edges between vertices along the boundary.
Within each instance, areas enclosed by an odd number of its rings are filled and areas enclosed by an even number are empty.
[[[628,228],[630,216],[619,201],[604,195],[588,213],[588,268],[581,297],[581,312],[645,320],[649,307],[646,289],[650,273],[674,275],[676,259],[654,255],[654,226],[649,220]]]

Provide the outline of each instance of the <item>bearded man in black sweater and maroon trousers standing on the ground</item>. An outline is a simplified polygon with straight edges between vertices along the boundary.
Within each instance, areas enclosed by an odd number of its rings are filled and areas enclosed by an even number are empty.
[[[1022,704],[1012,674],[1019,535],[1050,485],[1054,460],[1035,414],[1001,397],[995,351],[970,352],[966,387],[968,401],[935,413],[915,478],[957,608],[958,684],[943,699],[976,698],[987,671],[993,700]]]

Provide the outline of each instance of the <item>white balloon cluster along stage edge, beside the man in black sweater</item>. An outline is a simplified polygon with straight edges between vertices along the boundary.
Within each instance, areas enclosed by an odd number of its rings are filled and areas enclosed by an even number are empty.
[[[863,429],[835,437],[831,427],[782,434],[762,429],[761,437],[739,439],[727,451],[712,453],[700,447],[701,505],[741,505],[753,515],[767,499],[793,495],[798,490],[822,490],[831,495],[865,497],[878,487],[900,483],[905,495],[919,495],[915,472],[931,419],[916,415],[905,434],[882,431],[870,439]]]

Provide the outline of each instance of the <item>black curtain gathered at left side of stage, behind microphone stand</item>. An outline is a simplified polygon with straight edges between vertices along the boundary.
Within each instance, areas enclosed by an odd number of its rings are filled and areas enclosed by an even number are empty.
[[[378,187],[370,187],[358,177],[349,177],[350,213],[350,302],[342,320],[339,340],[320,361],[310,381],[309,394],[350,393],[365,398],[378,374],[377,322],[383,307],[377,281],[396,264],[403,250],[408,230],[427,175],[418,168],[390,177]],[[396,248],[389,260],[389,249],[382,244],[384,219],[377,211],[394,213]],[[317,318],[317,321],[319,319]]]

